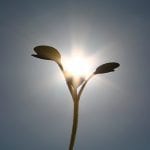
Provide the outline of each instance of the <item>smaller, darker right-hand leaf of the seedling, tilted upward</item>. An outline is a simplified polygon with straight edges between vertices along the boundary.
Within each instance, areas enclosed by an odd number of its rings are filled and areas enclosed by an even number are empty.
[[[103,65],[100,65],[99,67],[97,67],[94,74],[113,72],[113,71],[115,71],[114,69],[118,68],[119,66],[120,66],[120,64],[116,63],[116,62],[106,63],[106,64],[103,64]]]

